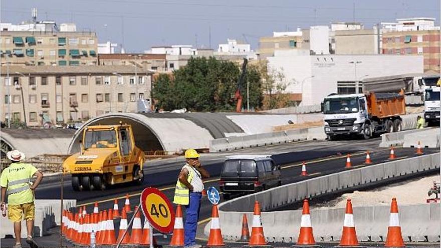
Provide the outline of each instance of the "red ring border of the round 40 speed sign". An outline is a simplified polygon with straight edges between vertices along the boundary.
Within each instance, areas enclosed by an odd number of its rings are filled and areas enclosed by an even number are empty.
[[[150,214],[148,214],[148,211],[146,211],[146,209],[144,209],[144,208],[146,207],[146,206],[145,206],[145,200],[146,200],[147,196],[148,196],[149,194],[152,194],[152,193],[157,194],[157,195],[159,195],[162,199],[164,199],[165,203],[167,203],[168,209],[170,209],[170,217],[171,217],[171,221],[170,221],[170,224],[168,224],[168,225],[165,226],[165,227],[162,227],[162,226],[157,225],[157,224],[153,221],[153,219],[151,218]],[[171,205],[170,200],[167,198],[167,196],[166,196],[163,192],[161,192],[161,191],[160,191],[159,189],[157,189],[157,188],[152,188],[152,187],[145,188],[145,189],[142,191],[142,193],[141,193],[141,196],[140,196],[140,202],[141,202],[141,209],[142,209],[142,212],[144,213],[144,217],[146,217],[146,218],[148,219],[148,221],[150,222],[150,225],[151,225],[153,228],[155,228],[156,230],[158,230],[158,231],[160,231],[160,232],[162,232],[162,233],[170,233],[170,232],[173,231],[173,228],[174,228],[174,218],[175,218],[175,216],[174,216],[174,215],[175,215],[175,213],[174,213],[174,209],[173,209],[173,206]],[[147,214],[146,214],[146,213],[147,213]]]

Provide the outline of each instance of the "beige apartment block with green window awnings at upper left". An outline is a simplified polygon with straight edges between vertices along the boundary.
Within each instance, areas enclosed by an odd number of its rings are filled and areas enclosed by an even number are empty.
[[[23,66],[97,65],[94,32],[2,31],[1,64]]]

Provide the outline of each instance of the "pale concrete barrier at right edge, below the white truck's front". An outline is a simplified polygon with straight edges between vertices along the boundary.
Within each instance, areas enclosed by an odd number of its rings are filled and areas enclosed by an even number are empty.
[[[421,143],[421,147],[439,147],[439,128],[418,130],[421,131],[404,135],[403,147],[417,147],[418,141]]]

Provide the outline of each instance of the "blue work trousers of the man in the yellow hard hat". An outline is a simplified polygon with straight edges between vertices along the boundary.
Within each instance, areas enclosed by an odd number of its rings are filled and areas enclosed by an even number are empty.
[[[185,206],[184,245],[196,243],[197,220],[199,219],[201,193],[191,192],[188,205]]]

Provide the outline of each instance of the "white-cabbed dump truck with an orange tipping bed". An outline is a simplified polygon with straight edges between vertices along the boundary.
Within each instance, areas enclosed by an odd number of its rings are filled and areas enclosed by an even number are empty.
[[[400,115],[406,113],[404,92],[330,94],[322,103],[325,133],[329,140],[342,135],[364,139],[401,131]]]

